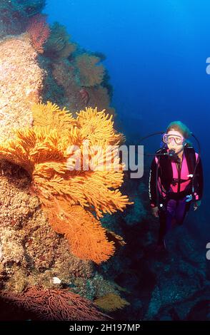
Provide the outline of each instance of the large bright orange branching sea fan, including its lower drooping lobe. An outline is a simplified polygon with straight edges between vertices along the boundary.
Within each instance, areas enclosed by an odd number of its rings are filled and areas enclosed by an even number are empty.
[[[31,190],[54,230],[69,239],[71,252],[100,264],[114,254],[100,217],[131,204],[119,190],[121,134],[112,115],[97,108],[81,110],[76,118],[50,102],[32,111],[33,127],[14,130],[13,139],[0,143],[0,158],[29,172]]]

